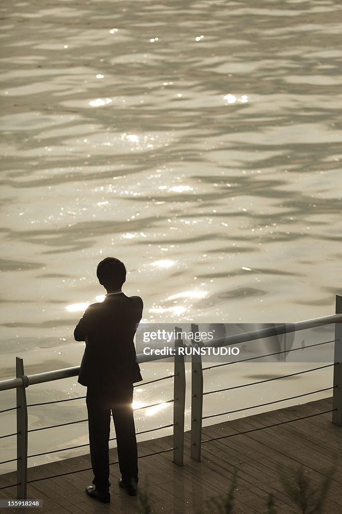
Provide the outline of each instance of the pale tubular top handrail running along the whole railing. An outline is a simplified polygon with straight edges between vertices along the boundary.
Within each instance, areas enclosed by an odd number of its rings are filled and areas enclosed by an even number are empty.
[[[255,330],[252,332],[246,332],[243,334],[235,334],[232,336],[227,336],[225,338],[224,343],[222,343],[222,338],[218,338],[217,340],[213,339],[210,342],[210,346],[219,347],[219,346],[229,346],[231,344],[239,344],[247,341],[253,341],[256,339],[263,339],[266,337],[279,336],[280,334],[288,334],[290,332],[306,330],[308,328],[314,328],[317,326],[329,325],[332,323],[341,323],[342,322],[342,314],[332,314],[330,316],[322,316],[320,318],[313,318],[304,321],[297,321],[294,323],[284,323],[282,325],[276,325],[268,328],[261,328],[259,330]],[[137,362],[152,362],[155,360],[163,360],[165,358],[170,358],[170,356],[165,357],[164,355],[145,355],[145,354],[137,354]],[[29,386],[33,384],[39,384],[44,382],[49,382],[51,380],[59,380],[62,378],[70,378],[77,376],[79,373],[80,366],[73,366],[72,368],[64,368],[62,370],[53,370],[47,371],[45,373],[36,373],[34,375],[25,376],[26,381]],[[19,387],[23,387],[24,379],[22,377],[11,378],[9,380],[1,380],[0,381],[0,391],[7,391],[9,389],[16,389]]]

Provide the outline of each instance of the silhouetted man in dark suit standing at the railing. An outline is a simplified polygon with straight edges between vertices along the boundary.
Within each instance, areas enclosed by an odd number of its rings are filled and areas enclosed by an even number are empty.
[[[87,409],[93,486],[86,493],[102,503],[110,501],[109,433],[113,415],[121,478],[119,486],[136,495],[138,482],[137,447],[133,418],[133,383],[142,380],[133,343],[143,315],[143,301],[127,297],[124,264],[113,257],[101,261],[98,281],[107,290],[102,303],[93,303],[79,320],[74,337],[86,348],[78,382],[87,386]]]

